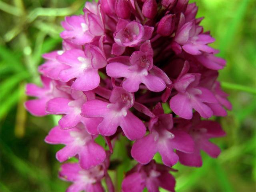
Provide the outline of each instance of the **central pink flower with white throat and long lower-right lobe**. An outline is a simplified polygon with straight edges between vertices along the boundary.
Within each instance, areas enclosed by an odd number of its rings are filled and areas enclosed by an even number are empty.
[[[113,135],[120,126],[128,139],[142,138],[146,132],[145,125],[128,110],[134,104],[134,95],[115,87],[109,101],[110,103],[102,100],[87,101],[82,108],[82,116],[103,118],[98,125],[99,134]]]

